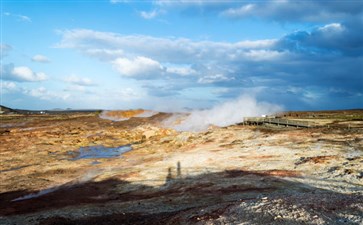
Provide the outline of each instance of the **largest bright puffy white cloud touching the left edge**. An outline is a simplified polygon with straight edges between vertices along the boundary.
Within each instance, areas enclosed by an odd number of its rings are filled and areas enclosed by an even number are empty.
[[[19,82],[37,82],[47,80],[48,77],[43,72],[33,72],[29,67],[6,64],[1,68],[2,79]]]

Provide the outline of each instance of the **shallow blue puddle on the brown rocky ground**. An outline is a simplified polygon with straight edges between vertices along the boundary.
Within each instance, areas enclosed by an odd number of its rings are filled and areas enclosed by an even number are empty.
[[[81,147],[78,151],[69,152],[74,155],[71,160],[79,159],[99,159],[99,158],[115,158],[125,152],[131,151],[131,145],[122,145],[119,147],[108,148],[103,145]],[[97,163],[96,163],[97,164]]]

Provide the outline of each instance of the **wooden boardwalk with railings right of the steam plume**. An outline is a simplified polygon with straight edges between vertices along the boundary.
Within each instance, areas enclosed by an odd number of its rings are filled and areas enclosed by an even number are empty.
[[[246,125],[264,125],[264,124],[274,124],[277,126],[286,126],[286,127],[312,127],[312,124],[307,121],[299,121],[299,120],[288,120],[288,119],[280,119],[280,118],[265,118],[265,117],[245,117],[243,124]]]

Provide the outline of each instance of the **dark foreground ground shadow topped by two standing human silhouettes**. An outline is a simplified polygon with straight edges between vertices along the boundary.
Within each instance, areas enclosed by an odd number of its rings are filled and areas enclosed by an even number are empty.
[[[180,162],[174,168],[167,168],[165,173],[162,186],[132,183],[115,177],[66,184],[35,197],[27,190],[2,193],[0,216],[12,221],[14,216],[31,215],[26,218],[36,217],[43,225],[194,224],[218,222],[223,215],[231,215],[234,218],[232,224],[304,224],[303,220],[299,222],[296,218],[276,220],[273,213],[264,210],[239,209],[242,203],[253,205],[263,201],[261,199],[267,199],[267,202],[272,199],[281,200],[281,204],[287,204],[287,209],[298,205],[304,212],[322,215],[328,224],[339,224],[339,219],[346,219],[339,217],[342,211],[349,211],[355,220],[363,219],[362,211],[354,207],[354,204],[363,202],[361,195],[342,194],[285,179],[298,176],[293,173],[225,170],[188,175],[182,173]],[[303,196],[308,196],[306,198],[311,202]],[[52,216],[42,216],[50,210],[53,210]],[[240,215],[238,210],[243,214]],[[83,214],[75,216],[78,215],[76,212]],[[89,215],[85,215],[86,212]],[[67,213],[72,216],[67,216]],[[228,217],[225,220],[228,221]],[[348,224],[355,224],[355,220],[348,221]]]

